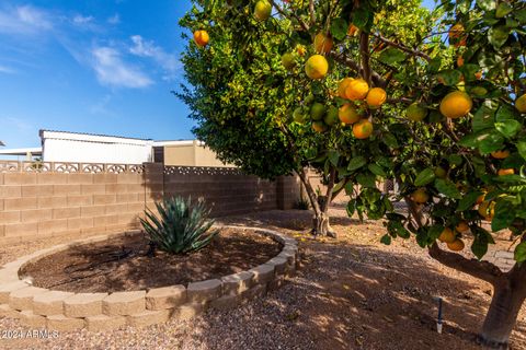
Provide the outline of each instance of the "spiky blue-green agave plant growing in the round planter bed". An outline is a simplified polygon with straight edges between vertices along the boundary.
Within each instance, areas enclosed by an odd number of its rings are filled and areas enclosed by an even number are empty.
[[[140,219],[152,249],[186,254],[204,248],[218,233],[207,233],[214,220],[208,219],[210,210],[203,200],[192,203],[190,197],[170,197],[156,202],[156,207],[159,215],[147,209],[147,220]]]

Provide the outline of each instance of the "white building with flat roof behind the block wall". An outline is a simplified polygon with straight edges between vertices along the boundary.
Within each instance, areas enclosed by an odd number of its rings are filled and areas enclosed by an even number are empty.
[[[44,162],[141,164],[153,160],[153,141],[41,130]]]

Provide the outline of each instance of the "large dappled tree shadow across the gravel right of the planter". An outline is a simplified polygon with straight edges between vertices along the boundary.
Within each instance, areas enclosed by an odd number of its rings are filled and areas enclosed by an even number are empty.
[[[294,228],[263,215],[239,223]],[[476,337],[489,284],[448,276],[424,254],[342,242],[307,242],[301,249],[305,266],[295,278],[262,301],[211,311],[203,320],[206,331],[194,340],[205,349],[480,349]],[[436,296],[444,299],[442,335]],[[518,320],[512,349],[526,348],[525,328]],[[207,342],[209,331],[221,334],[219,343]]]

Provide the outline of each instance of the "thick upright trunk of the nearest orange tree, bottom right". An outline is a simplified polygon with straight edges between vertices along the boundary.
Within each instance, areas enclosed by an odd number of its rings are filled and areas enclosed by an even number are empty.
[[[494,284],[493,298],[485,315],[479,341],[488,349],[508,349],[510,335],[525,300],[524,281],[506,276]]]

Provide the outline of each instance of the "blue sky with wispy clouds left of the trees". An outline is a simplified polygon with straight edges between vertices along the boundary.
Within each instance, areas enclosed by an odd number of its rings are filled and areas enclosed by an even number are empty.
[[[432,5],[432,0],[425,0]],[[0,140],[38,130],[192,139],[179,89],[190,0],[0,2]]]

